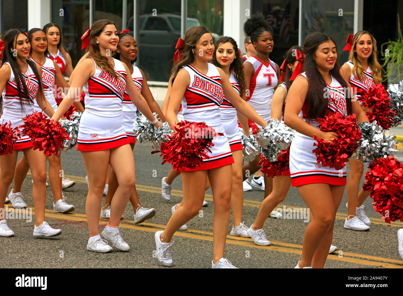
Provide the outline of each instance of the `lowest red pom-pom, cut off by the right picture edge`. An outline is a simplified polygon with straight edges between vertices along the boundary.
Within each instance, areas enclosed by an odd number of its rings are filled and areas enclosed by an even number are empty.
[[[371,191],[375,211],[386,223],[403,221],[403,164],[390,155],[376,159],[368,168],[362,188]]]

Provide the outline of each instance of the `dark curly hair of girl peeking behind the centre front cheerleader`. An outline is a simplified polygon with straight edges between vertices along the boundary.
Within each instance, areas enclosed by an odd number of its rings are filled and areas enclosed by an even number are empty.
[[[228,37],[228,36],[223,36],[223,37],[219,38],[216,41],[216,43],[214,43],[213,59],[211,60],[211,63],[214,66],[217,66],[219,68],[222,67],[220,65],[220,63],[217,61],[216,52],[217,52],[218,46],[220,46],[222,43],[227,43],[227,42],[232,44],[232,46],[234,48],[234,52],[235,52],[235,59],[232,61],[231,65],[229,66],[229,70],[234,71],[235,79],[237,80],[237,82],[239,83],[239,86],[241,87],[241,96],[242,96],[243,92],[246,90],[246,84],[245,84],[245,73],[243,72],[243,64],[242,64],[241,57],[239,56],[237,41],[235,41],[233,38]]]

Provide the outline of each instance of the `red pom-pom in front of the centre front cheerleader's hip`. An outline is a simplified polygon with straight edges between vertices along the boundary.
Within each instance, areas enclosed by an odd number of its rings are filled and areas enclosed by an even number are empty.
[[[209,158],[207,152],[214,146],[214,128],[203,122],[188,122],[183,120],[178,123],[177,132],[167,135],[168,141],[161,143],[163,162],[172,164],[172,168],[182,171],[185,168],[195,169],[203,163],[203,158]]]

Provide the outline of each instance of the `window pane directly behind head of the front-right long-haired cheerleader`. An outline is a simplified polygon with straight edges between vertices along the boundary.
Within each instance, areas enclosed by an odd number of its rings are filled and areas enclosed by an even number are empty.
[[[339,0],[330,6],[326,1],[305,0],[302,9],[302,40],[311,33],[324,32],[336,41],[340,64],[347,62],[349,52],[343,48],[347,36],[353,34],[354,1]]]

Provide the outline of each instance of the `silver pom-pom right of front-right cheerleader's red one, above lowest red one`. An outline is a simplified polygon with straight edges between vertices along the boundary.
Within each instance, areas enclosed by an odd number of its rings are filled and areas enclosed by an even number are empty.
[[[377,158],[384,158],[388,155],[398,152],[396,148],[397,141],[394,141],[394,134],[386,135],[382,127],[375,123],[361,122],[358,124],[362,137],[359,141],[359,147],[351,158],[360,160],[363,163],[371,163]]]

